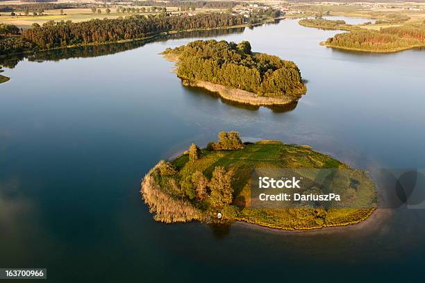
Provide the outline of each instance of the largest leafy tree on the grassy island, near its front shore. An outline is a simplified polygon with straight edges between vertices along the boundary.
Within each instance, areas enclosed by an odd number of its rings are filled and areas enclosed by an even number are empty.
[[[226,172],[222,166],[216,166],[213,178],[208,183],[211,189],[210,202],[213,207],[222,208],[230,205],[233,200],[233,189],[231,187],[232,173]]]

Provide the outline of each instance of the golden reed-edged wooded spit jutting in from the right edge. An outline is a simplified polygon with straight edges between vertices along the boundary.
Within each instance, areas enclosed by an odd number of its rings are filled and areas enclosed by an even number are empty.
[[[425,45],[425,24],[341,33],[326,40],[328,46],[362,51],[397,51]]]

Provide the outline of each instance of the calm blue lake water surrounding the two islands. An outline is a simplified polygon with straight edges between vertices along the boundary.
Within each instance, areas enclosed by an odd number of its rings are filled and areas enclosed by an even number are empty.
[[[253,51],[296,62],[308,93],[289,112],[235,107],[183,87],[158,53],[193,38],[115,44],[97,57],[92,49],[56,51],[44,55],[56,60],[4,68],[11,80],[0,85],[0,267],[46,267],[49,282],[419,280],[422,210],[401,207],[373,231],[288,234],[163,225],[140,200],[151,166],[220,130],[308,144],[361,168],[425,168],[424,51],[319,45],[335,33],[285,20],[192,34],[249,40]]]

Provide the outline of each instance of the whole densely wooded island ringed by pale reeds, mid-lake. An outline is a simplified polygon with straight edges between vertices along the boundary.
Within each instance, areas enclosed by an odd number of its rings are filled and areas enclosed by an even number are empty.
[[[253,53],[251,44],[224,40],[197,40],[167,49],[176,61],[184,85],[217,92],[226,100],[250,105],[288,105],[306,93],[301,72],[292,61]]]

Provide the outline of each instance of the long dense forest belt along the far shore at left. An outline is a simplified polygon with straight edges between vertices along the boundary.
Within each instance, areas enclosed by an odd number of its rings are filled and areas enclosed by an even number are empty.
[[[40,49],[85,45],[119,40],[137,40],[168,31],[199,28],[219,28],[244,24],[242,16],[205,13],[193,17],[144,17],[134,15],[125,19],[93,19],[88,22],[47,22],[35,24],[23,31],[22,37],[0,39],[0,55]]]

